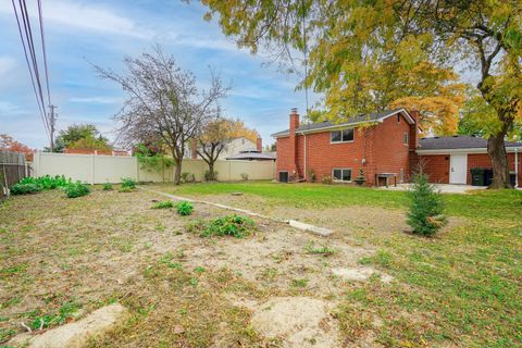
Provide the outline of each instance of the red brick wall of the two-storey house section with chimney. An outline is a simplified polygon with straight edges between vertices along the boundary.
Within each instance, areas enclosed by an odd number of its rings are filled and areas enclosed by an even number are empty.
[[[295,119],[290,122],[296,123]],[[290,129],[293,125],[290,124]],[[409,145],[405,145],[402,137],[410,133],[409,123],[402,117],[393,115],[383,123],[369,128],[356,128],[353,141],[331,144],[331,132],[321,132],[294,137],[277,138],[277,172],[291,171],[295,169],[293,153],[297,157],[297,167],[301,170],[301,177],[304,177],[304,162],[308,170],[313,169],[318,181],[323,176],[331,176],[335,167],[351,169],[351,176],[355,178],[359,169],[363,167],[366,176],[366,185],[374,185],[375,173],[396,173],[401,170],[405,177],[408,177]],[[304,142],[307,149],[304,151]],[[306,153],[306,161],[304,161]],[[365,158],[365,164],[362,160]]]

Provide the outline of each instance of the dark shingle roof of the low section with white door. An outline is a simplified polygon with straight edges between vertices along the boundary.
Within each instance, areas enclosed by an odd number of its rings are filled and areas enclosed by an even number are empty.
[[[505,141],[507,148],[522,147],[522,142]],[[419,140],[419,150],[443,150],[443,149],[481,149],[487,148],[487,139],[453,135],[450,137],[431,137]]]

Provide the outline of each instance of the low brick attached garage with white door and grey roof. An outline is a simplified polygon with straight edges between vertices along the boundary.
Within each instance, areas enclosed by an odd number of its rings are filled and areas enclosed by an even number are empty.
[[[522,144],[506,141],[506,151],[511,181],[515,186],[522,187]],[[477,184],[480,182],[476,178],[480,178],[477,175],[481,173],[484,175],[484,185],[488,185],[492,179],[487,139],[470,136],[421,138],[415,152],[433,183]]]

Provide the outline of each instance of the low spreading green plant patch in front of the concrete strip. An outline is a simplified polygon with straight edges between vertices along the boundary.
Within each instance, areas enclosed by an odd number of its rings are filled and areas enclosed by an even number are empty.
[[[234,236],[244,238],[249,236],[256,229],[256,223],[245,216],[227,215],[212,221],[199,221],[187,226],[192,233],[198,233],[201,237],[212,236]]]

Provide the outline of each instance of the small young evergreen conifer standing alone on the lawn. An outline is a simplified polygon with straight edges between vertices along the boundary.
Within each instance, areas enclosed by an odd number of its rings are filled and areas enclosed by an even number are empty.
[[[444,204],[440,192],[427,182],[427,175],[413,176],[413,188],[409,195],[411,206],[407,222],[414,234],[430,236],[444,226],[446,217],[443,215]]]

